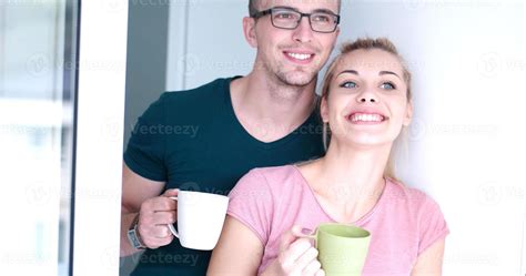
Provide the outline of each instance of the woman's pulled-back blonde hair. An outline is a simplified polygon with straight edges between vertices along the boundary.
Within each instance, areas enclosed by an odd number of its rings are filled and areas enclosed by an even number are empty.
[[[322,93],[321,93],[321,96],[318,99],[320,100],[318,101],[318,108],[322,103],[322,99],[325,98],[325,100],[326,100],[327,96],[328,96],[328,93],[331,91],[331,83],[332,83],[332,81],[334,79],[334,74],[335,74],[334,71],[337,68],[337,65],[343,62],[343,58],[347,53],[351,53],[351,52],[356,51],[356,50],[374,50],[374,49],[382,50],[382,51],[385,51],[387,53],[391,53],[391,54],[393,54],[394,57],[396,57],[398,59],[399,63],[402,64],[402,69],[403,69],[403,79],[404,79],[404,82],[407,86],[407,93],[406,93],[407,102],[411,102],[411,99],[413,96],[412,95],[412,90],[411,90],[411,78],[412,78],[412,75],[411,75],[409,70],[407,69],[407,65],[405,64],[404,59],[398,53],[398,50],[396,50],[396,47],[393,44],[393,42],[391,42],[387,38],[377,38],[377,39],[361,38],[361,39],[355,40],[354,42],[343,43],[341,49],[340,49],[340,54],[336,55],[336,58],[334,58],[334,60],[330,63],[330,65],[327,68],[327,71],[325,73],[325,76],[323,79]],[[325,123],[323,125],[323,144],[325,146],[325,151],[328,149],[330,142],[331,142],[331,129],[328,126],[328,123]],[[397,177],[395,176],[395,162],[394,162],[394,160],[395,160],[396,153],[399,152],[401,150],[403,150],[403,149],[399,149],[399,147],[404,147],[405,150],[407,149],[407,129],[405,126],[402,129],[401,134],[395,140],[393,149],[391,150],[390,160],[388,160],[387,165],[386,165],[385,171],[384,171],[384,176],[393,178],[393,180],[397,180]]]

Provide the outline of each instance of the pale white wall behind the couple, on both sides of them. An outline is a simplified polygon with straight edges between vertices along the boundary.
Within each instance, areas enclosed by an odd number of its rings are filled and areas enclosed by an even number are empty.
[[[188,29],[170,31],[170,43],[185,44],[169,53],[168,90],[249,72],[254,51],[241,32],[247,1],[188,2],[172,7],[172,14],[184,11]],[[386,35],[414,73],[401,175],[443,208],[452,231],[445,275],[525,275],[524,2],[344,0],[342,16],[340,41]]]

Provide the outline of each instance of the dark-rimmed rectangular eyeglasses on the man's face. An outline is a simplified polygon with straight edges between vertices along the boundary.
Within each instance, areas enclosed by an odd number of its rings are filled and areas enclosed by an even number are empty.
[[[285,30],[296,29],[303,17],[308,18],[311,30],[315,32],[334,32],[337,24],[340,23],[340,16],[334,14],[331,11],[303,13],[292,8],[271,8],[267,10],[254,12],[251,14],[251,17],[259,19],[266,14],[271,14],[272,25]]]

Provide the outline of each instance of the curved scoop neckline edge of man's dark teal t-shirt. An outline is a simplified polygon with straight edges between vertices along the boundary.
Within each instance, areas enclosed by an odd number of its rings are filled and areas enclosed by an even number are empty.
[[[315,116],[315,113],[316,111],[313,111],[308,117],[300,125],[297,126],[294,131],[292,131],[291,133],[289,133],[287,135],[276,140],[276,141],[272,141],[272,142],[263,142],[261,140],[257,140],[256,137],[252,136],[246,130],[245,127],[241,124],[240,120],[237,119],[237,116],[235,115],[235,111],[234,111],[234,106],[232,104],[232,95],[231,95],[231,91],[230,91],[230,84],[233,80],[235,79],[239,79],[239,78],[242,78],[242,75],[235,75],[235,76],[232,76],[230,79],[226,79],[224,82],[223,82],[223,91],[225,93],[225,103],[226,103],[226,108],[227,108],[227,113],[230,114],[230,116],[232,117],[233,122],[234,122],[234,125],[236,129],[239,129],[239,133],[241,134],[242,139],[245,139],[245,140],[249,140],[251,141],[252,143],[256,144],[257,146],[262,146],[262,147],[265,147],[265,149],[271,149],[271,147],[276,147],[276,146],[281,146],[285,143],[289,143],[290,141],[294,140],[295,137],[299,136],[299,133],[301,132],[300,130],[302,127],[305,127],[305,125],[308,125],[311,124],[313,121],[314,121],[314,116]]]

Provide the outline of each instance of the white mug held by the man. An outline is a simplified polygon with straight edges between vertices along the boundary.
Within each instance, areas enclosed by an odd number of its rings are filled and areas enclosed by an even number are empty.
[[[182,246],[212,251],[218,244],[229,207],[229,197],[218,194],[180,191],[178,196],[178,231],[168,227]]]

